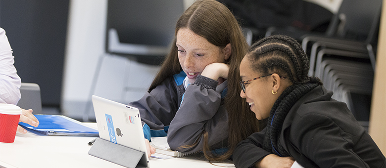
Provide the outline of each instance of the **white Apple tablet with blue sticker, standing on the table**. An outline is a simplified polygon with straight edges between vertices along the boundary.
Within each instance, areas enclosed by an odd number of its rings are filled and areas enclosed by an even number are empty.
[[[125,104],[92,96],[99,137],[112,143],[145,152],[140,164],[148,165],[140,111]]]

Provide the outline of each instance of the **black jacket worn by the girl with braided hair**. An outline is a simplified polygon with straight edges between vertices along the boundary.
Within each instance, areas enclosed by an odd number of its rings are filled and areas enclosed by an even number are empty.
[[[318,86],[302,96],[284,120],[280,142],[305,168],[385,168],[385,157],[345,103]],[[241,141],[233,159],[248,168],[271,154],[262,149],[266,129]]]

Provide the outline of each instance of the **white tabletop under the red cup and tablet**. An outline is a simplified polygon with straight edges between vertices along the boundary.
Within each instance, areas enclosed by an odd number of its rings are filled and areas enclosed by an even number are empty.
[[[90,123],[96,126],[95,123]],[[124,168],[88,154],[87,145],[95,137],[41,136],[31,132],[16,133],[14,143],[0,142],[0,168]],[[196,159],[150,158],[151,168],[221,168]],[[234,168],[233,164],[216,164]]]

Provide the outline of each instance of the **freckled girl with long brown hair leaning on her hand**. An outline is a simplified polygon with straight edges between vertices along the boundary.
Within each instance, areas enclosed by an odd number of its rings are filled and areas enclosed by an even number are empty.
[[[140,109],[145,137],[168,136],[171,149],[203,151],[209,160],[229,158],[238,142],[258,131],[239,97],[247,48],[225,5],[195,1],[177,21],[171,50],[148,92],[130,103]]]

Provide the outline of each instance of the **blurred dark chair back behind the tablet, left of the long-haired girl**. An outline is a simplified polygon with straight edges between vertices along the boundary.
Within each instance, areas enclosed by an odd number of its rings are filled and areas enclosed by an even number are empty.
[[[159,64],[167,54],[164,51],[169,51],[176,22],[183,12],[183,0],[108,0],[105,51],[141,63]],[[110,47],[114,31],[119,50]],[[152,54],[147,54],[148,50]],[[161,52],[154,54],[154,50]]]

